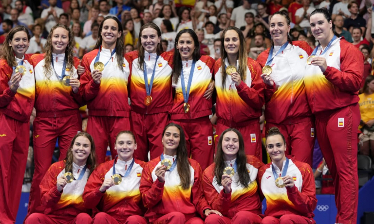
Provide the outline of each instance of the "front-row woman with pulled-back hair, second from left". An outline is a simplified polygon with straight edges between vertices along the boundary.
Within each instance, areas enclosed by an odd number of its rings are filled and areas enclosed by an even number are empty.
[[[147,224],[139,192],[145,162],[132,157],[137,144],[131,131],[121,131],[114,148],[118,156],[93,171],[83,193],[85,207],[100,212],[93,224]]]

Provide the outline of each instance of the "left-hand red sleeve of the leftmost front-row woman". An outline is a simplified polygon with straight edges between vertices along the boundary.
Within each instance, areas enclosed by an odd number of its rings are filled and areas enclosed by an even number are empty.
[[[62,162],[65,167],[65,162]],[[52,164],[40,182],[41,205],[43,207],[55,206],[61,198],[62,192],[57,190],[57,175],[64,168],[59,167],[61,162]]]

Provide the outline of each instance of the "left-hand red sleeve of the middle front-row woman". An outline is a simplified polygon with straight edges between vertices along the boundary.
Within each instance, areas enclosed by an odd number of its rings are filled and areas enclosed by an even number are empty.
[[[143,168],[142,177],[140,179],[140,194],[142,195],[144,207],[151,208],[162,199],[164,194],[164,183],[158,181],[153,182],[152,171],[154,167],[150,162],[146,163]]]

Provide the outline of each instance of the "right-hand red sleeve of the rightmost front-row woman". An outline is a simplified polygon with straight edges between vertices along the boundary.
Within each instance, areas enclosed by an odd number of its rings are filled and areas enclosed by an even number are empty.
[[[312,168],[306,163],[295,164],[302,174],[301,192],[296,186],[287,188],[288,199],[295,205],[295,209],[301,213],[312,213],[317,206],[316,184]]]

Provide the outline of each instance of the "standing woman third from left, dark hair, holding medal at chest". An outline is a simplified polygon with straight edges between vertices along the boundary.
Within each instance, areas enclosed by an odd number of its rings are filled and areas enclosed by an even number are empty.
[[[81,63],[85,69],[81,90],[89,110],[87,132],[95,139],[98,164],[105,161],[108,142],[114,158],[115,137],[130,130],[130,65],[124,55],[121,22],[117,17],[105,17],[94,50],[85,54]]]

